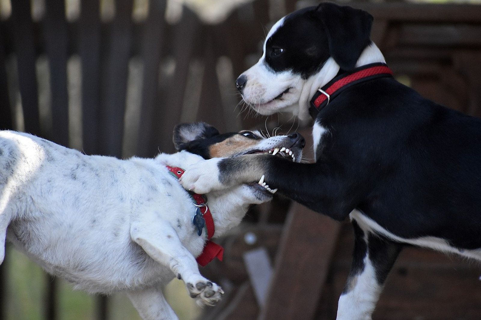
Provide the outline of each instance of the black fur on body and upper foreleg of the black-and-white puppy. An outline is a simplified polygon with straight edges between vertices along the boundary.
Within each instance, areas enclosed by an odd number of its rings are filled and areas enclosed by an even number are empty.
[[[481,119],[380,78],[346,89],[316,122],[329,130],[316,163],[260,157],[278,192],[336,220],[360,209],[403,238],[481,248]]]

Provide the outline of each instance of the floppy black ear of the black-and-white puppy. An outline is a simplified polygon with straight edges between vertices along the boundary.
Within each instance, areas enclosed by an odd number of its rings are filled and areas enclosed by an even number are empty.
[[[316,12],[327,33],[330,56],[342,70],[353,70],[362,51],[371,43],[372,15],[329,2],[319,4]]]

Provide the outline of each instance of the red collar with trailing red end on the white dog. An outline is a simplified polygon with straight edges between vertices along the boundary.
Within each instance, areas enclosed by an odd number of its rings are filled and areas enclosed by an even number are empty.
[[[184,174],[184,170],[177,168],[177,167],[170,167],[166,166],[167,169],[172,172],[177,179],[179,179],[182,174]],[[194,201],[198,204],[205,204],[206,200],[202,195],[197,193],[190,193]],[[217,257],[220,261],[224,256],[224,248],[222,246],[217,245],[216,243],[210,241],[210,239],[214,236],[215,233],[215,226],[214,226],[214,219],[212,219],[212,214],[210,212],[209,207],[205,207],[207,210],[203,214],[203,218],[205,219],[205,229],[207,229],[207,242],[205,243],[204,249],[199,257],[196,258],[197,263],[201,266],[207,265],[207,263],[211,262],[215,257]],[[201,208],[201,210],[204,210]]]

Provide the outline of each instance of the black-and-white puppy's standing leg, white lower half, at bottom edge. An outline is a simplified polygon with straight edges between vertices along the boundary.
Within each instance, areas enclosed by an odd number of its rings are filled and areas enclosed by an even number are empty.
[[[337,320],[369,320],[382,285],[402,244],[361,230],[353,221],[355,243],[351,271],[339,298]]]

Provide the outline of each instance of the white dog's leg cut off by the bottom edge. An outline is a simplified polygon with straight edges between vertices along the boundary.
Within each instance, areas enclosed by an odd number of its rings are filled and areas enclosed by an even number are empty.
[[[177,315],[165,301],[160,287],[127,293],[130,301],[144,320],[176,320]]]

